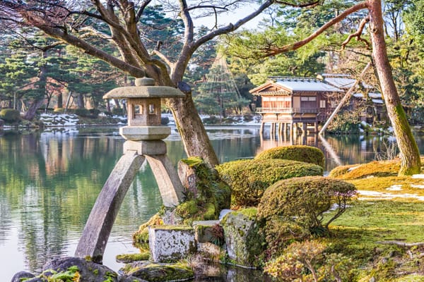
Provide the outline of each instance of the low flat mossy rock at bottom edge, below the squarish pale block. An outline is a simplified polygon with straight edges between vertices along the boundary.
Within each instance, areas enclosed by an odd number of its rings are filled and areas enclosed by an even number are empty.
[[[134,262],[126,264],[121,271],[128,276],[135,276],[146,281],[183,281],[194,278],[194,271],[188,264],[145,264]]]

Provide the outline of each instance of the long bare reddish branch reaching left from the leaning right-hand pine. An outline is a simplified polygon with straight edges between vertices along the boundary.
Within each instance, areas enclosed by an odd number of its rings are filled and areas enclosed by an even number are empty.
[[[266,52],[265,56],[275,56],[275,55],[284,53],[286,51],[293,51],[293,50],[299,49],[300,47],[304,46],[305,44],[311,42],[313,39],[315,39],[316,37],[321,35],[322,32],[327,30],[332,25],[335,25],[336,23],[340,23],[341,20],[343,20],[344,18],[349,16],[351,13],[355,13],[356,11],[360,11],[360,10],[363,10],[365,8],[367,8],[367,3],[365,1],[360,2],[360,3],[356,4],[355,6],[348,8],[346,11],[343,11],[343,13],[336,16],[335,18],[329,20],[328,23],[326,23],[322,27],[319,27],[319,29],[317,31],[313,32],[312,35],[310,35],[309,37],[307,37],[303,40],[300,40],[298,42],[295,42],[293,44],[288,44],[288,45],[285,45],[283,47],[278,47],[278,48],[267,50],[267,51],[265,51]]]

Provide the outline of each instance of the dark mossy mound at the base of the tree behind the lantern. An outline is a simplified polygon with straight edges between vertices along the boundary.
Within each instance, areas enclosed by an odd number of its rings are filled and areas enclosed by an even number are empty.
[[[192,157],[181,162],[180,167],[185,164],[190,172],[194,173],[192,176],[195,183],[190,183],[192,187],[186,187],[186,201],[177,206],[176,214],[181,216],[184,224],[218,219],[220,210],[230,207],[230,187],[220,178],[218,172],[206,166],[201,158]]]

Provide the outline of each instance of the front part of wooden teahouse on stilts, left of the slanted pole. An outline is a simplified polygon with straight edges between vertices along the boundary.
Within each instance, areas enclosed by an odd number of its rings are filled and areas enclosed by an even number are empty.
[[[304,132],[307,125],[314,125],[317,132],[318,123],[326,121],[343,92],[318,78],[286,77],[271,77],[269,82],[250,90],[261,99],[261,107],[257,108],[262,116],[261,132],[265,123],[271,123],[271,133],[278,125],[280,134],[288,128],[293,131],[300,124]]]

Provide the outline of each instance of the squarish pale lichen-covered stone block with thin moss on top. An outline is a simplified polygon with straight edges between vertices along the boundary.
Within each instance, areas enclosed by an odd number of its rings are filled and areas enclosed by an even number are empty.
[[[172,262],[196,251],[190,226],[149,226],[148,245],[153,262]]]

